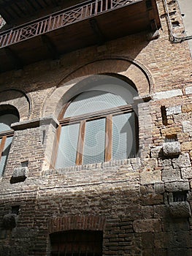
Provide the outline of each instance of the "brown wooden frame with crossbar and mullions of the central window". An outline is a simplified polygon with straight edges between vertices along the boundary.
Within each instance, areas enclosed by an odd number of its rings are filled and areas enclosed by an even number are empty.
[[[66,112],[66,109],[69,107],[70,103],[72,101],[68,102],[63,110],[61,110],[61,113],[59,115],[59,126],[56,132],[56,140],[54,143],[54,151],[53,151],[53,157],[52,157],[52,165],[51,167],[55,167],[55,163],[57,160],[58,155],[58,145],[61,135],[61,127],[69,125],[69,124],[80,124],[80,132],[79,132],[79,138],[77,143],[77,155],[76,155],[76,165],[83,165],[83,146],[85,142],[85,124],[88,121],[93,121],[100,118],[106,118],[106,130],[105,130],[105,152],[104,152],[104,162],[109,162],[112,160],[112,116],[122,115],[125,113],[134,113],[134,120],[135,120],[135,135],[136,135],[136,151],[138,151],[139,148],[139,139],[138,139],[138,119],[136,114],[136,106],[135,105],[123,105],[119,106],[117,108],[110,108],[107,110],[99,110],[92,113],[86,113],[80,116],[74,116],[74,117],[66,117],[64,118],[64,113]]]

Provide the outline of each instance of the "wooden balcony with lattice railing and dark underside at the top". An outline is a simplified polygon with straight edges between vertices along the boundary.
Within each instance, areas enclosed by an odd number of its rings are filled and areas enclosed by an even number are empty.
[[[0,33],[0,71],[160,27],[155,0],[92,0]]]

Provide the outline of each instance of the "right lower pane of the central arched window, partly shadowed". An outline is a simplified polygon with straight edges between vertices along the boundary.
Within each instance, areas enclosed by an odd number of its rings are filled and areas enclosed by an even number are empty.
[[[112,159],[135,157],[135,118],[134,113],[113,116],[112,118]]]

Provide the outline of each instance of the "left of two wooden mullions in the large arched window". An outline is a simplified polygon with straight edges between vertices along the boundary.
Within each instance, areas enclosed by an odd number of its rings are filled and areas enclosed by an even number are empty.
[[[80,133],[77,143],[77,157],[76,157],[76,165],[82,165],[82,152],[83,145],[85,140],[85,120],[80,121]]]

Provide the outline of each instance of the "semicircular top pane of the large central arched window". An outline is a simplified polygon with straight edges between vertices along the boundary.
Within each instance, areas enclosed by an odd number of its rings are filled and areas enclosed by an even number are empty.
[[[85,91],[72,101],[64,117],[79,116],[123,105],[127,105],[127,102],[119,95],[106,91]]]

